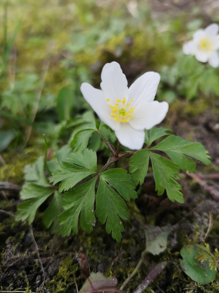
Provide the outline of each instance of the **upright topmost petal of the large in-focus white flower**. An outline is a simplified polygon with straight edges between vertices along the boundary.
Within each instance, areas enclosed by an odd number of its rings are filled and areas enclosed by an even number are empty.
[[[128,100],[128,82],[125,74],[117,62],[104,65],[101,73],[101,84],[105,100],[109,99],[110,104],[115,104],[116,100],[126,98]]]

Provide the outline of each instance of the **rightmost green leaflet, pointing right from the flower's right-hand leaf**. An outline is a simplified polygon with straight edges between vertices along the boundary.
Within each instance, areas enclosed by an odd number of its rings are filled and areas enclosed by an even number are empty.
[[[188,170],[189,172],[193,172],[195,168],[194,162],[192,163],[192,160],[186,158],[184,155],[191,156],[206,165],[211,164],[208,151],[206,151],[205,147],[200,142],[189,142],[179,136],[171,135],[166,137],[162,142],[151,149],[165,151],[183,171]]]

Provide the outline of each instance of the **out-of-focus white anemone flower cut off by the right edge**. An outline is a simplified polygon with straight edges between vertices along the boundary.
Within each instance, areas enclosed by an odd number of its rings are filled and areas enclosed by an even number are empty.
[[[183,53],[186,55],[194,55],[200,62],[209,62],[216,68],[219,65],[219,35],[218,25],[212,23],[204,30],[199,29],[193,34],[193,40],[183,45]]]

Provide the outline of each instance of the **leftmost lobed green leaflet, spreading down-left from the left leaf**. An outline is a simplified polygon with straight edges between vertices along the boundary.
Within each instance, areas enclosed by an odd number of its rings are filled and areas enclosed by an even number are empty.
[[[44,186],[36,185],[33,183],[26,184],[21,191],[22,199],[29,199],[25,202],[22,202],[18,205],[18,211],[16,213],[15,219],[17,221],[28,218],[28,223],[31,224],[34,220],[36,210],[38,207],[54,192],[50,188]]]

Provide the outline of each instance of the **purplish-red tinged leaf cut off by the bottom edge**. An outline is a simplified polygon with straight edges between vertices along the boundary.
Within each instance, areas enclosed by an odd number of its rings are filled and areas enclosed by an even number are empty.
[[[91,272],[90,277],[85,281],[79,293],[111,292],[117,289],[116,277],[105,277],[101,272]]]

